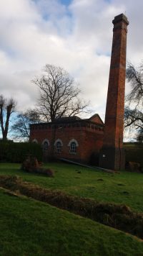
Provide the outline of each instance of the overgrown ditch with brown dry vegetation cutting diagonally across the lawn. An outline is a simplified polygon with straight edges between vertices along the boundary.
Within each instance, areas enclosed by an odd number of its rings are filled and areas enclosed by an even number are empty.
[[[69,196],[24,182],[18,176],[0,175],[0,186],[143,239],[143,214],[132,212],[124,204],[99,203],[89,198]]]

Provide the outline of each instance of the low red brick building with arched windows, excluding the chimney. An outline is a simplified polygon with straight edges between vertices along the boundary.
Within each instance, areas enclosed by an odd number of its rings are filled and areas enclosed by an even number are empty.
[[[45,160],[57,157],[89,163],[102,148],[103,129],[98,114],[89,119],[63,117],[55,122],[31,124],[30,141],[41,144]]]

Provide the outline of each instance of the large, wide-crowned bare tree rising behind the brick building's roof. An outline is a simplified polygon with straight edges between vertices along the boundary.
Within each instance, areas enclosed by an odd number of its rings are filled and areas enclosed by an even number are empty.
[[[79,98],[81,91],[63,68],[47,64],[44,75],[33,83],[39,88],[39,113],[47,122],[61,116],[75,116],[89,105]]]

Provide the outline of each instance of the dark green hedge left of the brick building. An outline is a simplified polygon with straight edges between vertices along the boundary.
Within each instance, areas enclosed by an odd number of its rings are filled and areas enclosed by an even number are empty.
[[[0,162],[21,163],[26,155],[34,155],[42,161],[41,146],[31,142],[0,142]]]

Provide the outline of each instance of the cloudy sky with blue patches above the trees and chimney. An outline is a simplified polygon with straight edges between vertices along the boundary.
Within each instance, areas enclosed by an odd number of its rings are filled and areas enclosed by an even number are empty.
[[[137,64],[143,59],[142,10],[142,0],[0,0],[0,93],[14,97],[20,110],[33,107],[31,80],[46,63],[59,65],[104,119],[112,19],[126,14],[127,60]]]

